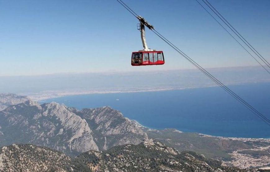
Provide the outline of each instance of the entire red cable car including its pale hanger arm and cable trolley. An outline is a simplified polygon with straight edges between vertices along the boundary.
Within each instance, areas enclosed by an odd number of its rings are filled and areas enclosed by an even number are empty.
[[[163,51],[156,51],[148,48],[145,39],[145,26],[152,30],[154,26],[149,24],[143,17],[140,15],[136,16],[139,19],[140,23],[137,25],[137,29],[141,31],[141,39],[143,50],[132,52],[131,56],[131,65],[132,66],[145,66],[145,65],[161,65],[164,64]]]

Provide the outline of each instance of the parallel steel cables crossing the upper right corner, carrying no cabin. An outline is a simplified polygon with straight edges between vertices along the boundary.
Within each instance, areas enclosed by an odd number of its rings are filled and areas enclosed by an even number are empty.
[[[241,41],[243,41],[244,43],[245,43],[245,45],[246,46],[248,46],[249,48],[250,48],[250,50],[251,51],[253,51],[254,52],[254,54],[256,54],[258,57],[259,57],[259,59],[261,59],[262,61],[263,61],[263,63],[264,64],[266,64],[267,66],[268,66],[268,68],[270,68],[270,64],[268,63],[268,61],[267,60],[265,60],[263,57],[260,57],[260,55],[258,55],[256,52],[256,50],[252,47],[252,46],[250,46],[250,44],[245,40],[245,38],[243,38],[241,35],[240,35],[240,33],[238,33],[237,31],[236,31],[236,29],[234,29],[234,27],[232,27],[232,25],[229,23],[229,22],[227,22],[227,20],[207,1],[207,0],[202,0],[217,16],[218,16],[218,18],[220,19],[220,20],[222,20],[223,21],[223,23],[224,24],[226,24],[231,30],[232,30],[232,32],[233,33],[235,33],[236,34],[236,36],[237,37],[239,37],[239,39],[241,39]],[[206,3],[206,2],[207,3]],[[211,7],[212,8],[211,8]],[[238,33],[238,34],[237,34]],[[256,51],[254,51],[252,48]]]

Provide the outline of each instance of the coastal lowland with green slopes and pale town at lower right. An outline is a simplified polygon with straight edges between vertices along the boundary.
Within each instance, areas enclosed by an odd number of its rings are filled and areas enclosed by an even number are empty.
[[[219,159],[223,161],[223,166],[236,166],[241,169],[270,166],[270,139],[216,137],[184,133],[175,129],[153,130],[138,123],[137,126],[141,127],[149,138],[176,148],[179,152],[193,151],[206,158]]]

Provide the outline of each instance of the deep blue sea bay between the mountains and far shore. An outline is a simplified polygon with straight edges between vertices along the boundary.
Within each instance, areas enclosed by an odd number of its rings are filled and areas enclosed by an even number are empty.
[[[270,119],[270,83],[228,87]],[[270,138],[270,126],[220,87],[73,95],[45,100],[52,101],[78,109],[110,106],[153,129],[176,128],[214,136]]]

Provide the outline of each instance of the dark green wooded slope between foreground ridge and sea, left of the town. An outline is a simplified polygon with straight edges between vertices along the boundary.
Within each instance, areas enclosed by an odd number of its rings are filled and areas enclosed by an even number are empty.
[[[218,140],[212,137],[201,137],[199,133],[179,133],[174,129],[145,130],[149,138],[159,140],[178,151],[194,151],[207,158],[230,158],[228,152],[238,148],[252,148],[252,145],[241,141]]]

